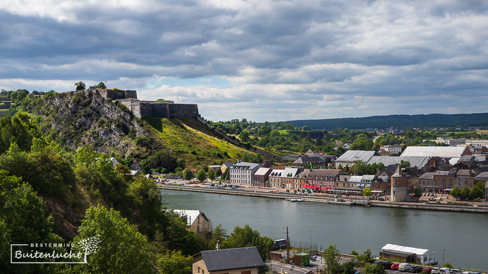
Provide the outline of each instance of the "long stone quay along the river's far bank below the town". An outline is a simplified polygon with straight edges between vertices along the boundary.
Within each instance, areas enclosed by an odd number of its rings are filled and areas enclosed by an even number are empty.
[[[240,196],[255,196],[277,199],[291,199],[297,197],[295,194],[289,193],[276,193],[276,192],[263,192],[253,190],[231,190],[231,189],[219,189],[219,188],[205,188],[195,186],[176,186],[176,185],[157,185],[159,189],[167,190],[179,190],[179,191],[192,191],[203,193],[216,193],[227,195],[240,195]],[[300,196],[306,202],[319,202],[329,203],[336,205],[346,206],[375,206],[375,207],[390,207],[390,208],[403,208],[403,209],[416,209],[416,210],[434,210],[434,211],[454,211],[454,212],[470,212],[470,213],[485,213],[488,214],[488,207],[483,205],[460,205],[460,204],[447,204],[447,203],[393,203],[389,201],[377,201],[368,199],[357,198],[334,198],[324,196]]]

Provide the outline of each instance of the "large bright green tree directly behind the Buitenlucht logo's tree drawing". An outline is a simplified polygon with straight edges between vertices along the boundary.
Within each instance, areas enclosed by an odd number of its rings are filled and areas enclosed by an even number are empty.
[[[92,206],[86,210],[85,219],[74,242],[99,235],[96,253],[90,254],[87,264],[77,265],[82,273],[132,273],[152,274],[150,247],[144,235],[114,209]],[[75,246],[75,249],[80,247]]]

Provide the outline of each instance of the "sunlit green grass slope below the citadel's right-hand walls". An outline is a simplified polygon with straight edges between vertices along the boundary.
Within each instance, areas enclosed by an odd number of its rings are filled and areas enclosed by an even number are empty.
[[[190,119],[146,117],[150,135],[188,165],[232,161],[246,150],[220,139],[203,124]]]

